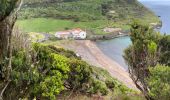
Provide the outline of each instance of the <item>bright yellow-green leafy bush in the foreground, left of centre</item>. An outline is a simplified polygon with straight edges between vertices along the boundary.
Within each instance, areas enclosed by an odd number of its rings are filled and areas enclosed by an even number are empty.
[[[35,96],[47,97],[55,100],[56,95],[64,90],[64,81],[68,78],[69,64],[64,56],[55,54],[48,46],[35,45],[38,67],[41,78],[34,85]]]

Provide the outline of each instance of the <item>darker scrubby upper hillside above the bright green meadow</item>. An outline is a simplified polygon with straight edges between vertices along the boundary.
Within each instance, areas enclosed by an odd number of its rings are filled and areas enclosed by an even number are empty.
[[[28,0],[20,12],[20,18],[51,17],[89,21],[99,19],[124,19],[150,13],[136,0],[133,3],[124,0]],[[134,8],[137,7],[137,8]],[[111,12],[112,11],[112,12]],[[111,14],[114,13],[115,14]],[[136,14],[135,14],[136,13]],[[140,15],[139,15],[140,14]],[[125,16],[128,15],[128,16]]]

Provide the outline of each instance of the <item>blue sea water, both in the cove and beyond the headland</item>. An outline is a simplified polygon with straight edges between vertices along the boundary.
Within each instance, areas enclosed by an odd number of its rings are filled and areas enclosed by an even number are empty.
[[[157,16],[161,16],[162,28],[160,32],[170,34],[170,0],[141,0],[140,2],[151,9]],[[127,70],[128,67],[122,55],[124,49],[127,48],[130,43],[129,37],[120,37],[112,40],[98,41],[96,44],[105,55],[118,62]]]

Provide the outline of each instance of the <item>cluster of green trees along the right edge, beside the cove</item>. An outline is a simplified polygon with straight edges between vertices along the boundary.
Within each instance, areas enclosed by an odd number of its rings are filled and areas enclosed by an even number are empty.
[[[156,86],[164,84],[164,82],[161,82],[161,80],[164,80],[162,76],[167,76],[168,74],[163,73],[165,69],[168,69],[166,66],[155,67],[158,64],[169,64],[169,55],[165,55],[169,52],[169,40],[167,37],[169,36],[161,36],[159,33],[154,32],[152,28],[140,22],[135,21],[131,25],[130,38],[132,45],[125,50],[124,58],[129,65],[132,80],[147,99],[158,99],[159,96],[155,97],[157,95],[156,90],[161,90],[162,88]],[[148,81],[147,78],[149,78]],[[168,79],[169,76],[166,78]],[[157,79],[160,81],[156,81]],[[169,91],[169,84],[165,88]],[[161,93],[166,94],[166,90],[160,92],[160,97],[167,98],[166,95]]]

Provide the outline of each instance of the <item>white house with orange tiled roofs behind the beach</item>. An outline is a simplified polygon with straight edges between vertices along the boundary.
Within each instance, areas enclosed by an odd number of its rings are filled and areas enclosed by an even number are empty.
[[[80,28],[56,32],[55,37],[59,39],[86,39],[87,33]]]

